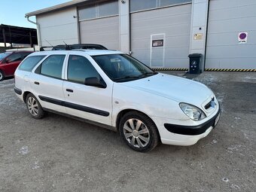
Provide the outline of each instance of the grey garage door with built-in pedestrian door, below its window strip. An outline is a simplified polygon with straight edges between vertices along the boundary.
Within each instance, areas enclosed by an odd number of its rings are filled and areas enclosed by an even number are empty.
[[[190,3],[132,13],[133,56],[151,67],[187,68],[190,23]]]

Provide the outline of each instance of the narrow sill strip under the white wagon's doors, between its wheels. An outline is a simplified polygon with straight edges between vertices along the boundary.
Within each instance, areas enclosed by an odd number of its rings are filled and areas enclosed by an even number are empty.
[[[75,120],[80,120],[80,121],[83,121],[85,123],[90,123],[90,124],[93,124],[93,125],[105,128],[107,130],[111,130],[111,131],[117,132],[117,127],[115,127],[115,126],[109,126],[109,125],[106,125],[106,124],[103,124],[103,123],[98,123],[98,122],[93,121],[93,120],[87,120],[87,119],[84,119],[84,118],[81,118],[81,117],[74,116],[72,114],[66,114],[66,113],[62,113],[62,112],[59,112],[59,111],[54,111],[54,110],[49,109],[49,108],[43,108],[43,109],[44,109],[44,111],[48,111],[50,113],[59,114],[59,115],[66,116],[66,117],[70,117],[70,118],[75,119]]]

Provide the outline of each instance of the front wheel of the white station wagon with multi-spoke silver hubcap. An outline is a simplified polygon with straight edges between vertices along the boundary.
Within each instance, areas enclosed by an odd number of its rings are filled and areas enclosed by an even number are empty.
[[[121,117],[119,132],[123,141],[135,151],[151,151],[160,141],[153,120],[138,111],[130,111]]]

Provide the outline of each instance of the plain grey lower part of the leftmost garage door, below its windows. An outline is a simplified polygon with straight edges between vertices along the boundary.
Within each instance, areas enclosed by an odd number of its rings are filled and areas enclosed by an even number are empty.
[[[102,44],[109,50],[119,50],[119,16],[80,22],[81,43]]]

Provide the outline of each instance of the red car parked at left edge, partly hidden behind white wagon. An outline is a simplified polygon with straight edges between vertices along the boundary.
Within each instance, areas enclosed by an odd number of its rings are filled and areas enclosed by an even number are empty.
[[[25,59],[32,51],[8,51],[0,53],[0,81],[6,77],[14,76],[14,72],[20,65],[20,62]]]

